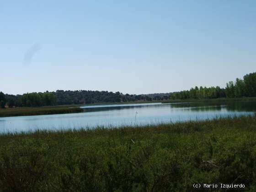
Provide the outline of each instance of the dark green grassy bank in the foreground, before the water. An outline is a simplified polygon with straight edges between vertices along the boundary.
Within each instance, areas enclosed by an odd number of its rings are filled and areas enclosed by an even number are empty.
[[[256,116],[0,135],[2,192],[196,191],[194,183],[256,190]]]

